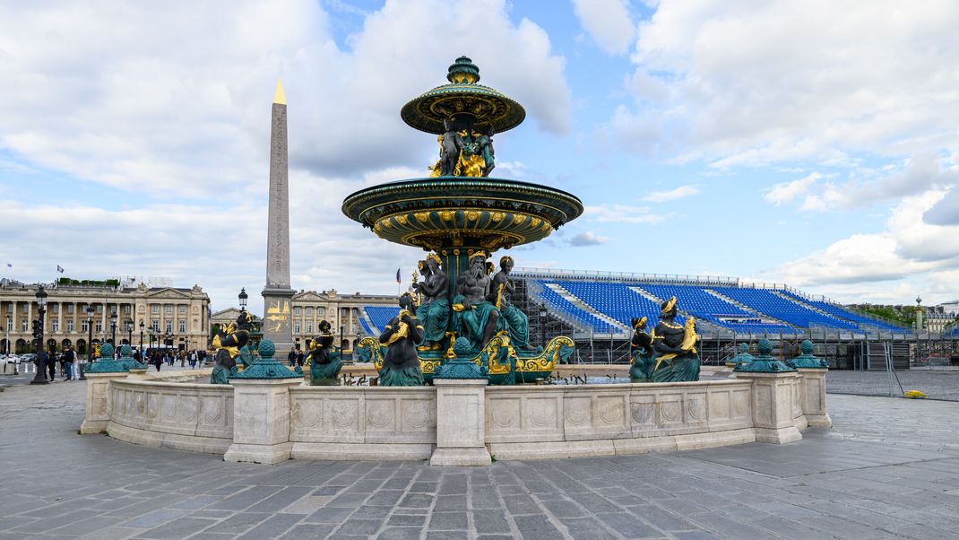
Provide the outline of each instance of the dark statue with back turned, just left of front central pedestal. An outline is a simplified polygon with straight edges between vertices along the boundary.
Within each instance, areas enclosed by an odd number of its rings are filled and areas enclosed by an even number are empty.
[[[386,344],[386,358],[380,368],[381,387],[418,387],[423,385],[416,345],[423,340],[423,324],[413,316],[413,298],[400,296],[400,313],[389,320],[380,335]]]

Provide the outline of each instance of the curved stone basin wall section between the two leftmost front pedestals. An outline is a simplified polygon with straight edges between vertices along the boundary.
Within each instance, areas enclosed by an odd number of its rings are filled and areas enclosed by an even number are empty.
[[[109,382],[107,433],[160,448],[223,454],[233,443],[233,387],[121,379]]]

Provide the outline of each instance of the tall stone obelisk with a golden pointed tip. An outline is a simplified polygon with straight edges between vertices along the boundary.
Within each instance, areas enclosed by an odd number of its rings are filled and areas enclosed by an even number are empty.
[[[290,195],[287,165],[287,98],[276,82],[269,134],[269,223],[267,286],[263,289],[263,337],[272,340],[281,357],[292,347],[290,287]]]

